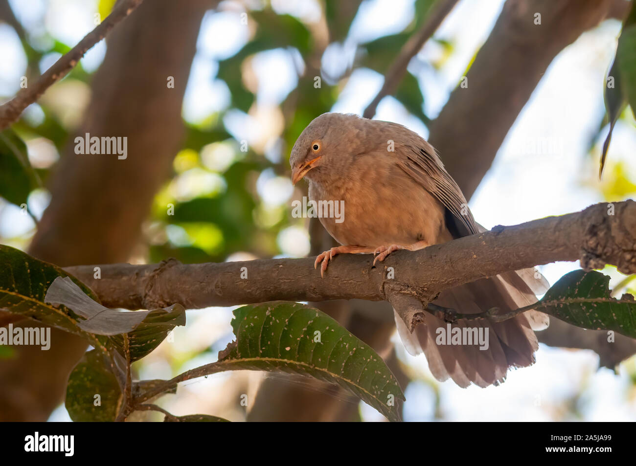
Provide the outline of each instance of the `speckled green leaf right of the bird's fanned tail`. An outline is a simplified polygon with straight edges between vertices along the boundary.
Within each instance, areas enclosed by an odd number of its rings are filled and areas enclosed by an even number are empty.
[[[631,294],[612,298],[609,277],[598,271],[563,275],[534,309],[584,329],[613,330],[636,338],[636,301]]]

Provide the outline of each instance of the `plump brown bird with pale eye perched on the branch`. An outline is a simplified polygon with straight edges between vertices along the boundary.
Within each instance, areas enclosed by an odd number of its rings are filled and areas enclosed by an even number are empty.
[[[340,221],[319,217],[340,243],[316,257],[314,268],[321,264],[321,277],[337,254],[373,253],[375,265],[396,250],[419,250],[486,230],[474,220],[436,150],[403,125],[324,113],[301,132],[289,163],[293,184],[308,182],[310,201],[343,202],[345,207]],[[448,289],[432,303],[462,314],[492,308],[508,312],[536,303],[536,295],[548,287],[543,275],[530,268]],[[453,324],[427,313],[412,331],[396,310],[394,319],[409,353],[424,353],[437,380],[451,379],[464,388],[499,385],[508,369],[534,364],[535,331],[549,324],[548,316],[535,310],[502,322],[458,319]],[[488,336],[487,349],[439,338],[443,329],[475,328]]]

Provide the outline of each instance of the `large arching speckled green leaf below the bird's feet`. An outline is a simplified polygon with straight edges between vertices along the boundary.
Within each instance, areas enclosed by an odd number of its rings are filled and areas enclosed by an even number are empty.
[[[273,301],[234,311],[237,339],[214,363],[231,369],[308,374],[336,383],[391,421],[400,420],[399,383],[380,356],[325,313]]]

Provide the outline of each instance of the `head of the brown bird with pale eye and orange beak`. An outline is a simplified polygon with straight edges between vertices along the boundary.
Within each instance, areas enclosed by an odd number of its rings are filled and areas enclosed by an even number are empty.
[[[323,113],[303,130],[291,149],[291,181],[303,178],[319,181],[341,172],[356,153],[355,136],[359,122],[356,115]]]

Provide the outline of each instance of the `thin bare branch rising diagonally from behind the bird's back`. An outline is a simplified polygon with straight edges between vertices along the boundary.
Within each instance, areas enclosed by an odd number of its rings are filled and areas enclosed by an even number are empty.
[[[371,100],[371,103],[364,110],[364,118],[373,118],[375,111],[380,103],[380,100],[384,99],[387,95],[391,95],[397,89],[400,81],[406,74],[406,67],[411,62],[411,58],[417,55],[418,51],[422,50],[424,43],[431,38],[435,31],[437,31],[441,22],[446,18],[446,15],[450,13],[458,0],[439,0],[436,3],[428,18],[424,22],[422,29],[417,31],[416,34],[411,36],[410,39],[404,44],[404,47],[397,55],[394,62],[389,67],[386,77],[384,79],[384,85],[382,89],[375,96],[375,99]]]

